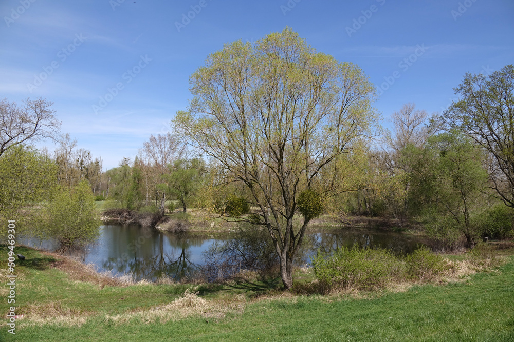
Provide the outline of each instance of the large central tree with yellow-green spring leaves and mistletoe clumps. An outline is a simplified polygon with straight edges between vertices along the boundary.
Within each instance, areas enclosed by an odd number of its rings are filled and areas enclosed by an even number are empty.
[[[337,179],[320,179],[330,178],[323,172],[352,140],[370,133],[375,88],[356,65],[316,52],[290,28],[255,44],[226,44],[190,85],[194,97],[175,125],[248,187],[259,208],[251,222],[269,232],[291,289],[307,224],[321,213],[320,199],[337,191]]]

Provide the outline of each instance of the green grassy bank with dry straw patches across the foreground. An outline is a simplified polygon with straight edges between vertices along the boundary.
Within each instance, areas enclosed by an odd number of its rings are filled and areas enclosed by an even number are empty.
[[[280,281],[251,279],[196,290],[126,285],[57,255],[16,252],[27,257],[16,260],[16,314],[25,316],[14,336],[3,320],[1,340],[514,340],[512,256],[496,271],[448,285],[300,296],[283,293]],[[0,272],[6,284],[7,270]],[[298,282],[311,278],[297,274]]]

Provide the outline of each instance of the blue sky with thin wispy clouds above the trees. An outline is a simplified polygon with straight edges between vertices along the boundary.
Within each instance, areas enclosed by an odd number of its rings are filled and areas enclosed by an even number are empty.
[[[0,97],[54,102],[104,170],[169,131],[209,53],[286,26],[363,69],[386,127],[408,102],[444,110],[466,72],[514,63],[512,0],[4,0],[0,14]]]

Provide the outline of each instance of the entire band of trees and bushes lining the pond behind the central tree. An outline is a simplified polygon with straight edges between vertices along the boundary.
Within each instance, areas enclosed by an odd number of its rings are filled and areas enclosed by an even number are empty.
[[[320,213],[342,221],[364,215],[393,226],[418,224],[450,247],[512,237],[513,75],[512,66],[488,77],[467,74],[455,88],[461,100],[442,114],[429,117],[414,104],[403,105],[391,115],[391,131],[354,138],[346,152],[312,177],[311,198],[302,202],[309,192],[295,194],[297,213],[314,218],[319,213],[311,214],[313,208],[320,204]],[[179,131],[151,135],[134,160],[124,158],[119,167],[102,171],[101,158],[79,149],[68,134],[58,134],[50,102],[28,99],[19,107],[4,99],[0,105],[6,127],[0,214],[24,222],[31,235],[59,237],[63,248],[98,234],[93,196],[106,200],[107,208],[159,217],[174,211],[175,204],[184,213],[194,208],[198,215],[242,216],[252,224],[262,224],[269,212],[242,175],[227,168],[235,162],[195,154]],[[58,141],[58,148],[50,153],[30,147],[42,137]],[[316,184],[328,190],[316,192]],[[271,204],[283,206],[280,196]],[[81,218],[74,224],[66,215]]]

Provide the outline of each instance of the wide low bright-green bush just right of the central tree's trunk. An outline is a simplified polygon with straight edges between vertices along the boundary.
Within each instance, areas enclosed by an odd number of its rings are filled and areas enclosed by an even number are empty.
[[[342,247],[332,255],[318,252],[312,264],[321,285],[328,289],[380,289],[405,272],[402,261],[383,249]]]

